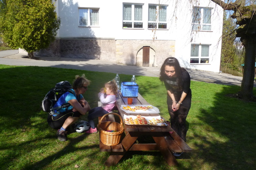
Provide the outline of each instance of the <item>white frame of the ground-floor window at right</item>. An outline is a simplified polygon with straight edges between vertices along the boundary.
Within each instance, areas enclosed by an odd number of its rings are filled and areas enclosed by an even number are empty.
[[[208,47],[208,54],[202,54],[202,46]],[[195,52],[196,47],[198,47],[198,52]],[[190,64],[209,64],[209,63],[210,63],[210,44],[191,44]]]

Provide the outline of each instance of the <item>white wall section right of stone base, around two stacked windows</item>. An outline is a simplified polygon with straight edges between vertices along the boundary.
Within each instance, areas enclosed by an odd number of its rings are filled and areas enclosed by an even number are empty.
[[[177,11],[175,57],[184,68],[219,72],[223,9],[210,0],[201,0],[200,7],[211,7],[211,31],[192,31],[192,6]],[[210,61],[205,64],[190,64],[191,44],[210,44]]]

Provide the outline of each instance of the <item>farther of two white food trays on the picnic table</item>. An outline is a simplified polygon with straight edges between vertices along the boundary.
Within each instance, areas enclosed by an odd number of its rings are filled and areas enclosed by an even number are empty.
[[[159,109],[152,105],[121,105],[121,110],[126,113],[148,113],[155,114],[159,113]]]

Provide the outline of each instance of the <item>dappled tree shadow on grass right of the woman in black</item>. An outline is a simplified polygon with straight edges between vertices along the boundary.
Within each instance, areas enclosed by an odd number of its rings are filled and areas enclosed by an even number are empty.
[[[197,122],[191,123],[187,138],[195,149],[191,164],[209,164],[216,170],[255,169],[256,158],[248,151],[256,147],[256,103],[227,96],[239,88],[223,85],[221,91],[213,92],[212,106],[201,105],[198,115],[193,115]]]

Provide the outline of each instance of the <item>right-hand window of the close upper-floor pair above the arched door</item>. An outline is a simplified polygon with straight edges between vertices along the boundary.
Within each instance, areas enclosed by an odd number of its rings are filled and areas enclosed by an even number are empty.
[[[167,6],[148,6],[148,28],[167,29]]]

